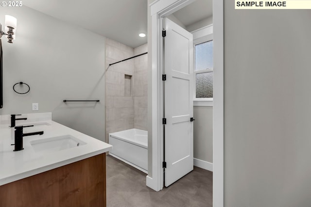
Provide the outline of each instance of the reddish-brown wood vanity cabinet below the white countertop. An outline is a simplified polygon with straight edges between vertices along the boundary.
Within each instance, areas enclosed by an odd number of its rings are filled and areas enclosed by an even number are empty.
[[[0,186],[0,207],[82,206],[106,206],[105,153]]]

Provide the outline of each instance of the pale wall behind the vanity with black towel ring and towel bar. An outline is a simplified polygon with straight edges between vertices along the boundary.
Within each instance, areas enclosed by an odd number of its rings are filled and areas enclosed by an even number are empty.
[[[27,6],[0,7],[17,18],[17,39],[2,37],[3,108],[0,114],[52,112],[52,119],[104,140],[104,37],[71,26]],[[30,85],[15,93],[17,82]],[[100,103],[63,103],[99,99]],[[39,111],[32,111],[32,103]]]

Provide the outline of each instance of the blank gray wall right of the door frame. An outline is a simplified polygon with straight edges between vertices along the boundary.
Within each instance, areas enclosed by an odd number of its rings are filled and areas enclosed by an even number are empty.
[[[311,11],[225,5],[225,206],[311,205]]]

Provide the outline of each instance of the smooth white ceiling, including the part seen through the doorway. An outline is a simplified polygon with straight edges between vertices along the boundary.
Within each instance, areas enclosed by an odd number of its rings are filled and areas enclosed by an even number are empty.
[[[174,16],[188,26],[212,15],[209,1],[196,0]],[[138,36],[147,34],[147,0],[24,0],[23,4],[132,48],[147,43],[147,36]]]

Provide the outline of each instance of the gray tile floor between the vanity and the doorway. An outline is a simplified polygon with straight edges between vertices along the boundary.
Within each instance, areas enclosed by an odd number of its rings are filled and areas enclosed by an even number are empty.
[[[107,155],[107,207],[212,207],[213,173],[194,170],[156,192],[146,186],[146,174]]]

